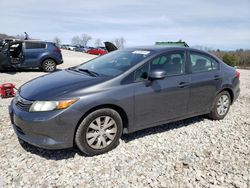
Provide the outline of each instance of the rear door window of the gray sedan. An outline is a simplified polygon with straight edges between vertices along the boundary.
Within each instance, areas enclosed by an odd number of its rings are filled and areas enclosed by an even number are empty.
[[[192,72],[205,72],[218,70],[218,62],[204,54],[190,52]]]

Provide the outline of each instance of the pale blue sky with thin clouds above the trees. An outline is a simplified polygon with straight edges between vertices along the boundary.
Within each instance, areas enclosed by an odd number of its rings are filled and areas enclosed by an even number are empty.
[[[125,46],[186,41],[250,49],[250,0],[0,0],[0,33],[70,44],[83,33]]]

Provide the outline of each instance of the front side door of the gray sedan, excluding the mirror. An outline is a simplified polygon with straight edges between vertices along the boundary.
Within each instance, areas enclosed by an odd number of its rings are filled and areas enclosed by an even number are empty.
[[[185,72],[185,60],[185,51],[169,52],[154,58],[135,72],[136,129],[186,115],[190,76]],[[148,69],[163,69],[168,76],[147,85]]]

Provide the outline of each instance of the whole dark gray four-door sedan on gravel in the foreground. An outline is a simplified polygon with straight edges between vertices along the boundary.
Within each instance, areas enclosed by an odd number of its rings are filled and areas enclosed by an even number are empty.
[[[27,82],[9,112],[26,142],[76,145],[97,155],[113,149],[122,134],[203,114],[223,119],[239,95],[239,77],[200,50],[128,48]]]

